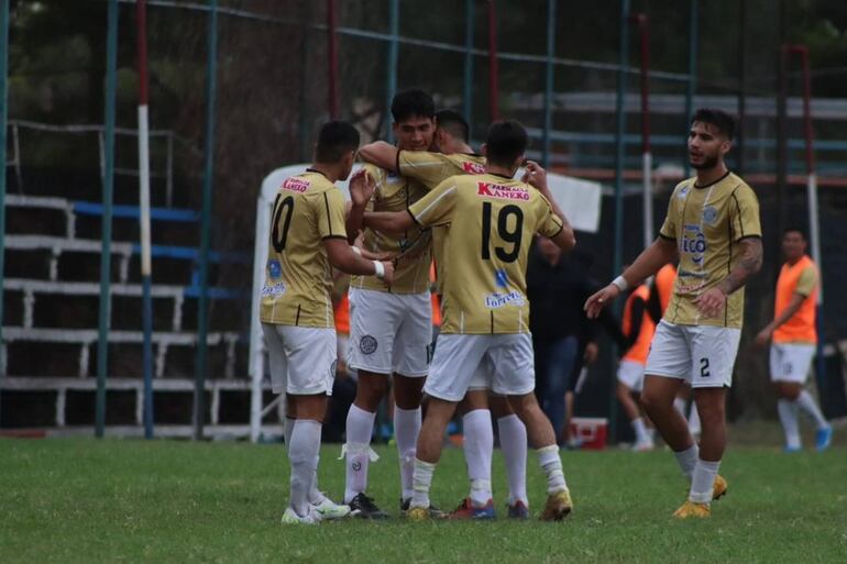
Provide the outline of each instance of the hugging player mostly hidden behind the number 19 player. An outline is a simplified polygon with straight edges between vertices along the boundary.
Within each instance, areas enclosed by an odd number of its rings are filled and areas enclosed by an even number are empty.
[[[436,134],[430,151],[400,151],[394,145],[377,141],[362,146],[360,156],[377,166],[393,169],[403,176],[419,180],[427,189],[433,189],[455,175],[485,173],[485,157],[473,152],[469,143],[470,128],[461,113],[453,110],[436,112]],[[449,225],[432,228],[432,251],[437,267],[437,291],[442,294],[447,276],[444,252]],[[491,462],[494,452],[492,411],[506,464],[509,485],[508,516],[529,517],[526,493],[527,433],[526,427],[515,414],[505,398],[490,397],[492,372],[483,363],[471,380],[469,391],[459,406],[465,462],[471,479],[471,491],[459,508],[450,513],[452,519],[493,519],[494,504],[491,487]],[[491,410],[490,410],[491,407]],[[406,508],[408,509],[408,507]]]

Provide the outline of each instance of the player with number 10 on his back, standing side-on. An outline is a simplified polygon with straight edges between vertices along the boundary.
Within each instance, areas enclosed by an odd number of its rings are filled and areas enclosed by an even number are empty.
[[[338,358],[330,266],[386,284],[394,273],[392,263],[370,261],[346,241],[344,198],[334,183],[350,175],[358,147],[359,132],[350,123],[326,123],[312,166],[286,178],[274,201],[261,320],[272,387],[285,392],[287,402],[292,477],[284,523],[316,523],[350,512],[317,488],[321,423]]]

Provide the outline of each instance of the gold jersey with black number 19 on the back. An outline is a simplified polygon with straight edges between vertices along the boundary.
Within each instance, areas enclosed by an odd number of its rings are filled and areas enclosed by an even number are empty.
[[[541,192],[493,174],[453,176],[409,213],[425,228],[450,225],[441,333],[529,332],[526,266],[532,236],[562,230]]]

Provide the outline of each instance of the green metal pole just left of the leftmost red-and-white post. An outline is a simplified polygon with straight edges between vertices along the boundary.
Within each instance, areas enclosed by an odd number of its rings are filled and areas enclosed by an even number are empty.
[[[114,185],[114,98],[118,76],[118,0],[109,0],[106,35],[106,131],[103,133],[103,215],[100,250],[100,319],[97,336],[95,435],[106,425],[106,371],[109,362],[110,283],[112,270],[112,191]]]

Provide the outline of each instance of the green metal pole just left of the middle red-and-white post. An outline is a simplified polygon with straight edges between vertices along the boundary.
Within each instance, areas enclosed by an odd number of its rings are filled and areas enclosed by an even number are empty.
[[[615,253],[612,266],[613,275],[620,274],[624,256],[624,159],[626,147],[626,66],[629,62],[629,0],[620,0],[620,52],[617,70],[617,129],[615,133]],[[615,312],[620,313],[622,301],[615,302]],[[614,375],[614,371],[612,371]],[[608,411],[609,433],[614,438],[617,432],[617,398],[615,396],[614,377],[609,389]]]

